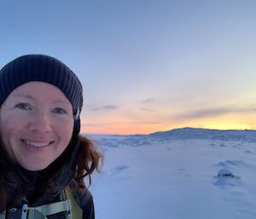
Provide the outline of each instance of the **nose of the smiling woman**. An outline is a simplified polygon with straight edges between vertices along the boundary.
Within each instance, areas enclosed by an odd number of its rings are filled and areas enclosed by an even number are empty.
[[[33,133],[44,134],[51,130],[51,122],[46,112],[34,113],[29,123],[29,130]]]

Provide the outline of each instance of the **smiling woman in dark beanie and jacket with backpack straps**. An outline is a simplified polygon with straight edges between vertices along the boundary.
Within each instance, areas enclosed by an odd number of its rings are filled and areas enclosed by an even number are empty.
[[[3,66],[0,218],[95,218],[84,176],[90,182],[102,154],[79,135],[82,92],[75,74],[48,55]]]

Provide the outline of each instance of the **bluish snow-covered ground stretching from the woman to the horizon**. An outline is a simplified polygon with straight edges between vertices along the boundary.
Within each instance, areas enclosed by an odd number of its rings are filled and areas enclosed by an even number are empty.
[[[255,219],[256,142],[193,131],[90,135],[105,152],[90,187],[96,218]]]

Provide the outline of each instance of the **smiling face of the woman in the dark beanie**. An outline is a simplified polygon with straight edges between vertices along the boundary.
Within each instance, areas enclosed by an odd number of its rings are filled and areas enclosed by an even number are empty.
[[[73,108],[51,84],[29,82],[13,90],[0,108],[3,147],[26,170],[44,170],[73,135]]]

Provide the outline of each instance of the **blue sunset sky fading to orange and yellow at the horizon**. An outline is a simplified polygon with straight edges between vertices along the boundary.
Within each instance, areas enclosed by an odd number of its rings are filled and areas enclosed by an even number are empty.
[[[256,1],[1,1],[0,66],[51,55],[84,87],[82,132],[256,129]]]

